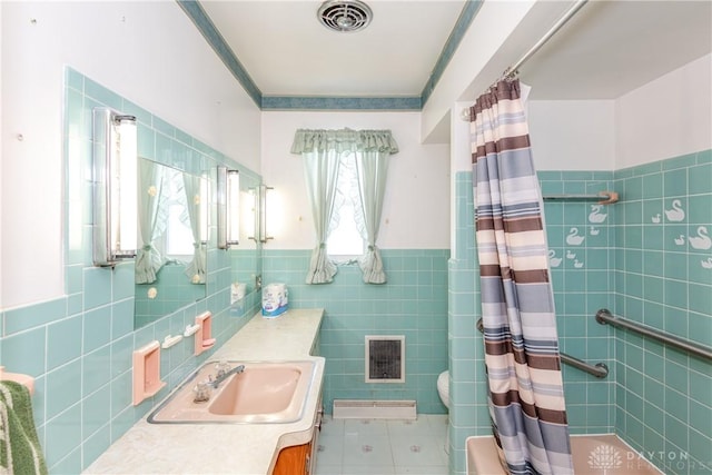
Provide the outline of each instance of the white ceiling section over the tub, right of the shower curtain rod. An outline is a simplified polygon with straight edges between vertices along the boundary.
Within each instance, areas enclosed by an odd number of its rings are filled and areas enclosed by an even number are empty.
[[[589,1],[520,77],[532,99],[615,99],[711,51],[712,1]]]

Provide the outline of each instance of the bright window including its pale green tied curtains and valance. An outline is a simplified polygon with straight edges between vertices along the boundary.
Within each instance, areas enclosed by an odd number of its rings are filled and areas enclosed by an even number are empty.
[[[344,157],[349,150],[353,152]],[[304,160],[307,192],[317,234],[317,245],[309,259],[307,284],[328,284],[334,280],[337,269],[333,257],[337,251],[360,256],[359,267],[364,283],[386,283],[376,236],[386,188],[388,156],[397,151],[398,146],[390,130],[297,130],[291,152],[301,155]],[[359,164],[358,172],[356,162]],[[354,165],[342,167],[342,164]],[[349,168],[353,171],[349,172]],[[345,181],[348,178],[348,181],[357,185],[348,187]],[[364,204],[358,198],[354,200],[357,195],[354,192],[355,186],[358,186],[367,202]],[[350,209],[346,205],[349,201]],[[342,226],[344,228],[339,229]],[[363,231],[365,238],[359,236],[362,232],[354,232],[354,228]],[[367,247],[364,240],[368,244]],[[329,245],[334,249],[329,249]]]

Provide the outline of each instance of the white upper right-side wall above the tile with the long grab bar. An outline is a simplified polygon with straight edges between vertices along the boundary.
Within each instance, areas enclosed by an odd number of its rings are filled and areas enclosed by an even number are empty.
[[[712,148],[712,55],[620,97],[615,123],[616,169]]]

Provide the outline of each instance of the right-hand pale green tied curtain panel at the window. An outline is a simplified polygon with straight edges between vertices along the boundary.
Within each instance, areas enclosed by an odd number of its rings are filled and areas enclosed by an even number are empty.
[[[389,136],[389,133],[388,133]],[[355,187],[358,190],[356,226],[362,238],[368,244],[366,253],[358,260],[366,284],[385,284],[380,251],[376,246],[383,200],[386,192],[388,156],[398,151],[393,138],[385,141],[378,132],[362,132],[360,151],[356,154]]]

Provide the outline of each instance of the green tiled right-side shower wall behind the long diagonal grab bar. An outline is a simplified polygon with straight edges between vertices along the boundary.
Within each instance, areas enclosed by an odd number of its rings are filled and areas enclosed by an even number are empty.
[[[614,310],[712,344],[712,150],[615,172]],[[678,211],[680,209],[681,211]],[[709,362],[625,330],[614,335],[615,429],[666,474],[712,472]]]

